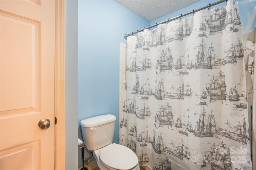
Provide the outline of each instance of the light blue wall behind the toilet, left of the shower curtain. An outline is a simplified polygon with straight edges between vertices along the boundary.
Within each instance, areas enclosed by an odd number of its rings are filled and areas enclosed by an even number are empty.
[[[80,139],[82,119],[110,113],[117,118],[113,142],[118,143],[120,43],[126,43],[125,33],[148,24],[147,20],[112,0],[78,1]]]

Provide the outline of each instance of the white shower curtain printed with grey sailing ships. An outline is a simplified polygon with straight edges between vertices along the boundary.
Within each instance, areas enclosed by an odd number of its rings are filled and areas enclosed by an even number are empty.
[[[237,4],[127,37],[119,127],[152,170],[251,169]]]

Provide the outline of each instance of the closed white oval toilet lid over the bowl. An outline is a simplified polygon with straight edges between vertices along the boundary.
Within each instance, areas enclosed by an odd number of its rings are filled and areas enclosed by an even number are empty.
[[[100,149],[99,157],[102,164],[118,170],[130,170],[138,164],[138,157],[131,149],[116,143]]]

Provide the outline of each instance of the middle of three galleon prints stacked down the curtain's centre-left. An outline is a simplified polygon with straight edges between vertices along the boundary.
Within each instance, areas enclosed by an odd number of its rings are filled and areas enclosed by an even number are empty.
[[[174,123],[174,115],[172,115],[172,106],[170,106],[169,102],[167,102],[165,106],[162,105],[160,107],[160,110],[156,113],[156,117],[160,125],[172,126],[172,124]]]

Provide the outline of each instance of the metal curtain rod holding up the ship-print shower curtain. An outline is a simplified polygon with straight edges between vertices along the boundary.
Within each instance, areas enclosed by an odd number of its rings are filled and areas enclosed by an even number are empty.
[[[130,33],[130,34],[124,34],[124,39],[126,39],[126,38],[127,38],[128,36],[130,36],[130,35],[134,35],[134,34],[136,34],[136,33],[138,33],[138,32],[143,31],[144,29],[150,29],[150,28],[152,28],[152,27],[156,27],[157,25],[160,25],[160,24],[162,24],[162,23],[166,23],[166,22],[169,22],[169,21],[172,21],[172,20],[176,20],[176,19],[178,19],[178,18],[182,18],[183,16],[187,16],[187,15],[189,15],[189,14],[193,14],[193,13],[198,12],[198,11],[200,11],[200,10],[204,10],[205,8],[210,8],[211,6],[220,4],[220,3],[225,2],[225,1],[227,2],[228,0],[219,0],[219,1],[217,1],[217,2],[214,2],[214,3],[212,3],[212,4],[209,4],[209,5],[207,5],[207,6],[204,6],[204,7],[202,7],[202,8],[198,8],[198,9],[196,9],[196,10],[187,12],[186,14],[180,14],[180,16],[176,16],[176,17],[174,17],[174,18],[171,18],[171,19],[168,19],[168,20],[165,20],[165,21],[156,23],[156,24],[154,24],[154,25],[151,25],[151,26],[148,26],[148,27],[144,27],[143,29],[137,30],[136,32],[133,32],[133,33]]]

